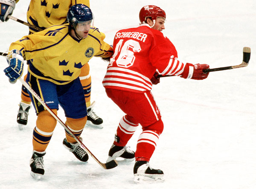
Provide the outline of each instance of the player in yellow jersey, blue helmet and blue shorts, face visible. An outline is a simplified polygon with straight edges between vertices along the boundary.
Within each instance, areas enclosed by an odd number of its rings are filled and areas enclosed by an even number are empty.
[[[68,24],[50,26],[12,43],[7,59],[9,67],[4,72],[10,82],[15,82],[22,75],[25,59],[29,64],[26,82],[54,113],[57,114],[61,105],[67,127],[81,139],[87,121],[84,91],[79,80],[81,68],[93,56],[109,59],[113,48],[103,41],[105,35],[99,29],[90,28],[93,15],[89,7],[71,6],[67,19]],[[44,175],[43,157],[57,122],[31,93],[29,95],[38,116],[30,167],[31,175],[39,179]],[[67,132],[63,145],[79,160],[88,160],[88,154]]]

